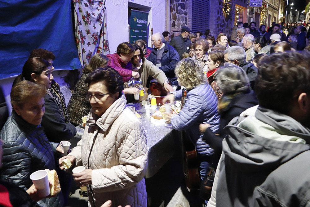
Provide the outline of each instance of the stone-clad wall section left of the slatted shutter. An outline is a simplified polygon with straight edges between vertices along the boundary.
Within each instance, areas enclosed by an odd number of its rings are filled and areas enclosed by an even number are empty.
[[[170,30],[181,31],[183,26],[192,27],[192,1],[170,0]]]

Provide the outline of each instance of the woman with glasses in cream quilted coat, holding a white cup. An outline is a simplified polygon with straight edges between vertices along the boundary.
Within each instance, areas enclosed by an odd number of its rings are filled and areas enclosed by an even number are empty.
[[[147,141],[139,119],[126,107],[122,77],[112,68],[97,69],[85,80],[91,103],[82,140],[69,158],[79,186],[87,186],[88,206],[112,200],[114,206],[147,206],[144,175],[148,164]]]

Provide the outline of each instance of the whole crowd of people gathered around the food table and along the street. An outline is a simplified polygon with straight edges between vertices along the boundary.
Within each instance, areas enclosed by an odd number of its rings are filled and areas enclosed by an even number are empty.
[[[143,87],[155,79],[168,93],[164,103],[187,91],[179,114],[165,114],[197,151],[202,203],[309,203],[309,26],[238,22],[216,37],[184,26],[171,39],[154,33],[153,48],[142,39],[120,43],[114,54],[91,57],[68,106],[53,80],[55,55],[34,49],[14,80],[0,135],[5,206],[65,206],[72,176],[87,186],[89,206],[147,206],[147,137],[126,106],[140,90],[124,88],[138,78]],[[81,141],[62,156],[60,142],[75,136],[84,116]],[[71,174],[64,159],[86,170]],[[38,197],[30,174],[40,169],[56,170],[61,193]]]

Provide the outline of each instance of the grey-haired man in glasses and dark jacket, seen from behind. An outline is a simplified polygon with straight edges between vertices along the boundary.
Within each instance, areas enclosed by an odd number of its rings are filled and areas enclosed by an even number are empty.
[[[242,47],[232,46],[227,48],[224,52],[224,60],[225,62],[230,62],[241,67],[249,78],[250,87],[255,90],[254,83],[257,77],[258,69],[252,62],[246,62],[246,52]]]

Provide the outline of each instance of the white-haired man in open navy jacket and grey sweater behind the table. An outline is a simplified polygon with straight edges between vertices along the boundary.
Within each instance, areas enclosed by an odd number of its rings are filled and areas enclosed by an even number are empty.
[[[151,42],[154,48],[147,60],[151,61],[157,68],[165,73],[171,85],[178,85],[174,69],[175,64],[179,62],[179,54],[175,48],[163,43],[163,41],[164,36],[161,33],[158,32],[152,35]]]

